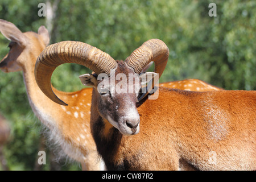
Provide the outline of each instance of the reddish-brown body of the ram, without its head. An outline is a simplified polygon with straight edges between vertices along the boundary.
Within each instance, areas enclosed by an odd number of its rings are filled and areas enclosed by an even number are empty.
[[[94,89],[90,124],[108,169],[256,169],[256,91],[160,87],[157,100],[137,104],[141,130],[131,136],[102,118],[100,99]]]

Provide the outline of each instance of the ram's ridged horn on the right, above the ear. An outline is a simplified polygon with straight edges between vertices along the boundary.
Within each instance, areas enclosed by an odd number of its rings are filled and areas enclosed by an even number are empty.
[[[125,61],[138,74],[141,73],[148,63],[154,61],[154,72],[158,73],[160,78],[164,68],[166,68],[168,57],[169,49],[166,44],[162,40],[151,39],[135,49]]]

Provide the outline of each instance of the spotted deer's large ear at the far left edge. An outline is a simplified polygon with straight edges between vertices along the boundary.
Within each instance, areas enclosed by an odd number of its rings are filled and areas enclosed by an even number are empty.
[[[27,37],[13,23],[0,19],[0,31],[6,39],[18,43],[19,46],[26,46]]]

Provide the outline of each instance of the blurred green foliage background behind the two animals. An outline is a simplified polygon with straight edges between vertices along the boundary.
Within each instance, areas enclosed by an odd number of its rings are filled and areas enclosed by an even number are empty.
[[[210,17],[209,3],[217,16]],[[39,3],[46,16],[39,17]],[[48,28],[52,43],[77,40],[125,60],[148,39],[163,40],[170,49],[160,82],[198,78],[224,89],[256,89],[256,1],[180,0],[1,0],[0,18],[22,32]],[[0,34],[0,58],[9,52]],[[1,60],[0,59],[0,60]],[[151,68],[152,71],[152,68]],[[53,73],[55,88],[71,92],[84,88],[79,75],[90,72],[75,64]],[[0,170],[80,170],[61,160],[45,144],[42,126],[28,104],[22,72],[0,72],[0,114],[10,137],[0,147]],[[0,126],[1,127],[1,126]],[[38,166],[38,151],[47,151],[47,164]]]

